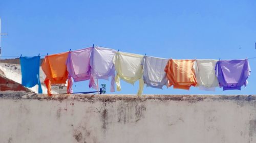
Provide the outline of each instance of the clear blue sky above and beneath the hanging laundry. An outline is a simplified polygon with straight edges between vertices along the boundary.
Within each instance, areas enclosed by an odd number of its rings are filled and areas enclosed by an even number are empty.
[[[256,57],[256,1],[0,1],[2,55],[45,55],[92,44],[174,59]],[[241,47],[241,49],[239,49]],[[10,58],[10,57],[3,57]],[[144,88],[143,94],[255,94],[256,59],[241,91]],[[110,93],[110,81],[106,83]],[[92,91],[76,82],[75,92]],[[120,94],[136,94],[121,82]]]

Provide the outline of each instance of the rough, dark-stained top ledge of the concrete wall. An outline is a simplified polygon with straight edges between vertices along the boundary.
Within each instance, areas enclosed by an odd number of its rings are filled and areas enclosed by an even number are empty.
[[[222,100],[234,100],[234,101],[255,101],[256,95],[129,95],[129,94],[53,94],[48,96],[47,94],[36,94],[27,92],[0,92],[1,99],[13,99],[13,100],[72,100],[83,102],[115,102],[122,101],[147,101],[147,100],[160,100],[160,101],[187,101],[190,103],[199,101],[222,101]]]

